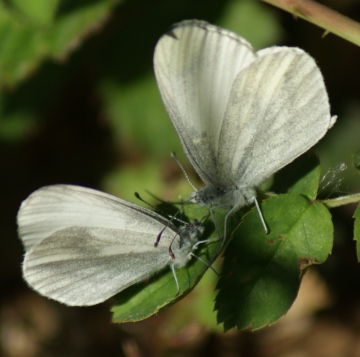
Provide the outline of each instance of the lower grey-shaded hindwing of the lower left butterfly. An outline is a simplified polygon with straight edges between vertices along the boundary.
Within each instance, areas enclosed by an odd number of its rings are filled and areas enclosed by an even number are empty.
[[[95,305],[166,267],[167,247],[153,242],[153,234],[132,229],[65,228],[26,253],[24,278],[66,305]]]

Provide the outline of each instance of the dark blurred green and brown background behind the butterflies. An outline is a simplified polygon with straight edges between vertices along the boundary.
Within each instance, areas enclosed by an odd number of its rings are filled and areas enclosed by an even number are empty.
[[[100,1],[64,1],[58,19],[96,3]],[[360,21],[357,0],[322,3]],[[111,323],[109,303],[69,308],[40,297],[22,280],[16,214],[35,189],[71,183],[133,202],[135,191],[147,197],[148,190],[167,200],[190,192],[169,155],[176,151],[192,172],[152,70],[157,39],[174,22],[190,18],[231,29],[255,48],[298,46],[316,59],[332,113],[339,117],[315,148],[324,175],[328,173],[320,194],[359,191],[352,167],[352,155],[360,148],[358,47],[332,34],[323,38],[322,29],[254,0],[114,2],[71,51],[39,61],[16,83],[0,84],[1,355],[360,356],[360,271],[351,205],[332,210],[333,254],[306,275],[294,309],[275,326],[255,333],[223,334],[216,327],[215,295],[208,292],[215,285],[214,274],[184,301],[125,325]],[[4,43],[7,34],[1,31]],[[5,50],[0,45],[0,57]],[[346,170],[337,169],[342,163]]]

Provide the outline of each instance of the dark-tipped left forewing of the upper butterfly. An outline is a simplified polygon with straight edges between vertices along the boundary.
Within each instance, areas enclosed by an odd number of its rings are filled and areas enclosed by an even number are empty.
[[[202,21],[175,25],[156,45],[154,70],[165,108],[206,184],[220,182],[220,134],[231,88],[254,58],[246,40]]]

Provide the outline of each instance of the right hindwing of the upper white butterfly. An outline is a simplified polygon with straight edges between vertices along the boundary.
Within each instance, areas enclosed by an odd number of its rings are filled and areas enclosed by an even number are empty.
[[[315,145],[335,119],[313,58],[298,48],[259,51],[230,94],[217,159],[221,182],[262,183]]]

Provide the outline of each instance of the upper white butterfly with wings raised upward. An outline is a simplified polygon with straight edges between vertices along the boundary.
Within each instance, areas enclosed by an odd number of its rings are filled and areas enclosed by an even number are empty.
[[[195,202],[238,208],[256,187],[315,145],[335,123],[315,61],[299,48],[255,51],[204,21],[175,24],[154,70],[185,153],[206,184]]]

